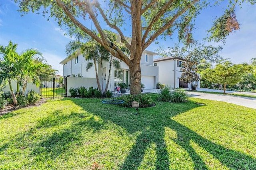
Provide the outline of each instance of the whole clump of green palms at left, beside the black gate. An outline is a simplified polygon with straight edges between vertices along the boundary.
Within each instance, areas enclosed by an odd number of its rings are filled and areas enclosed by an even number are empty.
[[[30,78],[33,80],[33,84],[37,86],[39,84],[36,70],[48,66],[47,64],[35,62],[36,55],[42,56],[37,49],[27,49],[19,54],[16,52],[17,46],[12,41],[6,47],[0,46],[0,53],[3,54],[0,60],[0,83],[5,80],[9,82],[14,105],[17,104],[17,100],[13,92],[11,80],[17,82],[17,96],[20,95],[20,86],[23,87],[22,95],[24,95],[26,84]]]

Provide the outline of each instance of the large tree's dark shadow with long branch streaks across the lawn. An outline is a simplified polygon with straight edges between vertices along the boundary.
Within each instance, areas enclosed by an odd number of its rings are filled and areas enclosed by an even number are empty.
[[[191,146],[190,141],[194,141],[199,147],[212,154],[214,158],[218,159],[218,161],[226,165],[228,168],[256,168],[256,160],[251,156],[232,149],[228,149],[221,145],[217,145],[171,118],[190,109],[202,107],[192,102],[177,105],[177,107],[174,107],[175,109],[172,110],[168,110],[168,107],[166,107],[166,109],[154,109],[154,113],[145,113],[146,111],[150,111],[150,108],[140,109],[140,112],[142,113],[138,115],[138,117],[133,115],[134,112],[126,113],[126,108],[122,107],[120,107],[120,109],[115,114],[110,111],[111,107],[116,108],[119,106],[106,105],[104,106],[106,112],[102,114],[97,111],[98,108],[92,109],[82,102],[74,101],[74,103],[86,111],[90,111],[102,117],[103,119],[112,121],[113,123],[122,126],[129,133],[134,133],[134,131],[142,131],[142,133],[138,135],[135,145],[130,150],[120,169],[138,169],[143,161],[146,149],[150,146],[151,143],[156,144],[156,169],[169,169],[170,158],[164,141],[165,127],[169,127],[170,129],[176,131],[177,139],[173,139],[173,141],[187,151],[190,158],[194,162],[195,169],[208,169],[208,167],[206,166],[205,161],[202,160],[201,156]],[[158,112],[159,110],[166,111],[166,113],[160,113]],[[126,115],[125,119],[124,115]],[[166,119],[167,117],[168,119]],[[139,121],[136,120],[137,118]]]

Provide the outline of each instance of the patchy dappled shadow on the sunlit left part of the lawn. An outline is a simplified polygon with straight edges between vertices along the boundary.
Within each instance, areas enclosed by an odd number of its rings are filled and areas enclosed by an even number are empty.
[[[58,165],[54,160],[62,154],[67,154],[82,145],[82,135],[84,133],[95,133],[102,127],[102,122],[96,121],[94,116],[87,113],[71,112],[62,114],[62,110],[55,110],[47,117],[42,117],[34,127],[18,133],[9,142],[0,147],[0,154],[5,154],[8,148],[27,150],[31,164],[47,162],[48,169],[55,169]],[[44,131],[38,136],[38,131]],[[52,132],[51,132],[52,131]]]

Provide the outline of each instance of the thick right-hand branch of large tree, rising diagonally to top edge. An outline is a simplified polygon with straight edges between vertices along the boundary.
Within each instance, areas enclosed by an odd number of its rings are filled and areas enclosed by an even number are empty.
[[[174,21],[181,16],[182,14],[184,14],[188,8],[190,8],[191,6],[193,6],[196,2],[198,2],[199,0],[193,0],[192,2],[190,2],[190,4],[188,4],[188,6],[186,6],[185,8],[183,8],[181,11],[179,11],[177,14],[175,14],[172,19],[166,23],[164,26],[162,26],[160,29],[158,29],[158,31],[156,31],[149,39],[148,41],[143,45],[142,49],[145,50],[155,39],[156,37],[158,37],[160,34],[162,34],[167,28],[169,28]]]

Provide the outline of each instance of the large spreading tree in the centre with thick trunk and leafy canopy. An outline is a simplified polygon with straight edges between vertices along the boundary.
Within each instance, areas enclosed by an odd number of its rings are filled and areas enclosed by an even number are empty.
[[[159,36],[164,39],[172,37],[174,31],[178,31],[180,41],[185,44],[192,43],[194,19],[200,14],[200,10],[213,4],[208,0],[114,0],[105,3],[100,3],[98,0],[15,0],[15,2],[19,3],[21,12],[37,11],[38,14],[42,13],[44,16],[50,13],[47,19],[54,17],[60,26],[80,27],[112,55],[115,56],[116,53],[116,57],[130,68],[132,85],[130,92],[134,96],[140,94],[140,59],[143,51]],[[220,41],[238,29],[230,27],[233,22],[236,23],[233,9],[235,5],[240,5],[244,0],[229,2],[230,5],[226,8],[227,11],[232,12],[226,12],[223,19],[216,20],[216,24],[214,23],[214,27],[210,30],[211,39]],[[255,3],[254,0],[249,0],[249,2]],[[108,8],[104,10],[102,5]],[[100,37],[83,25],[84,20],[92,21]],[[102,29],[102,25],[106,24],[119,33],[130,55],[126,55],[116,47],[116,42],[111,42],[107,38]],[[131,28],[131,43],[128,43],[122,31],[127,27]],[[225,33],[222,33],[224,31]],[[114,46],[111,45],[112,43]]]

